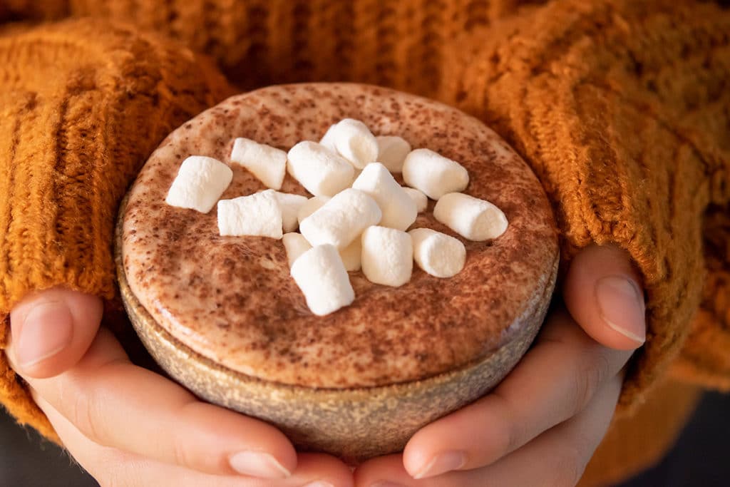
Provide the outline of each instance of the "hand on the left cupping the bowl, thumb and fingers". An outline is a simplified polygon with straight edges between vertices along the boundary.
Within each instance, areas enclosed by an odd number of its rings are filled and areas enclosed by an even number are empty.
[[[10,315],[11,366],[101,486],[352,486],[350,469],[296,452],[274,426],[196,399],[129,361],[99,329],[101,301],[54,288]],[[264,479],[264,480],[262,480]]]

